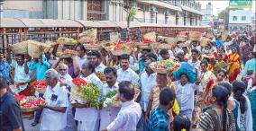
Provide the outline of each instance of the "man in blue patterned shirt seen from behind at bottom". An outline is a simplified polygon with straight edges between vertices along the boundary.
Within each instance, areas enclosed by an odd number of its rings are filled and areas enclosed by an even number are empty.
[[[148,127],[150,131],[169,131],[168,110],[173,107],[175,92],[169,87],[160,92],[160,106],[151,111]]]

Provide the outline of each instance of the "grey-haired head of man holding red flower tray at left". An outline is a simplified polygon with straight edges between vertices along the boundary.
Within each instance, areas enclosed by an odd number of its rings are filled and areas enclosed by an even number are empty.
[[[54,69],[49,69],[44,73],[45,81],[52,88],[58,83],[59,75],[58,72]]]

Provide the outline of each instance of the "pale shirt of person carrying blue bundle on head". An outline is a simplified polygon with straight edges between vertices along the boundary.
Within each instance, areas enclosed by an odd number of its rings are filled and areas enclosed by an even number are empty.
[[[174,84],[177,86],[177,100],[180,110],[194,109],[195,91],[199,90],[201,86],[189,82],[181,85],[179,81],[174,82]]]

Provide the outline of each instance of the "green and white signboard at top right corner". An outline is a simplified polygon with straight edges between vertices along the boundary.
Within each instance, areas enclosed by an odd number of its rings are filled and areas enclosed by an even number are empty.
[[[252,0],[230,0],[229,8],[230,9],[243,9],[243,8],[251,8]]]

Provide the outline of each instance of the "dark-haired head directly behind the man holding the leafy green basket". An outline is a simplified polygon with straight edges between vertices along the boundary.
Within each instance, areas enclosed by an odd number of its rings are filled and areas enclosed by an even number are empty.
[[[96,65],[96,66],[100,65],[101,54],[96,50],[92,50],[87,53],[87,60],[88,60],[88,62],[92,63],[93,65]]]

